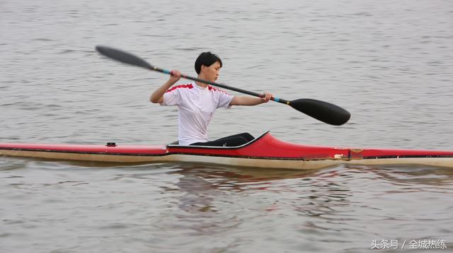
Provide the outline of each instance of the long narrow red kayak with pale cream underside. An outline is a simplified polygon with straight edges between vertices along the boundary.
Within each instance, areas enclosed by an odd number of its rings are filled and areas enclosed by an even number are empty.
[[[308,146],[280,141],[269,131],[235,147],[0,143],[0,155],[103,163],[207,163],[292,170],[340,164],[453,167],[453,151]]]

